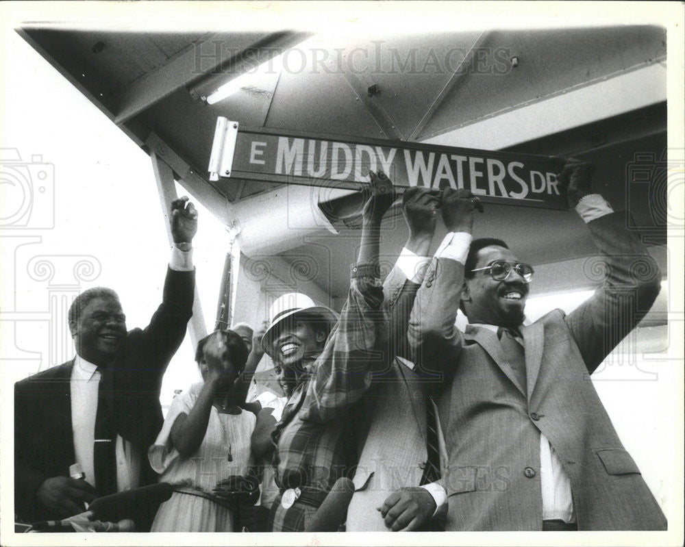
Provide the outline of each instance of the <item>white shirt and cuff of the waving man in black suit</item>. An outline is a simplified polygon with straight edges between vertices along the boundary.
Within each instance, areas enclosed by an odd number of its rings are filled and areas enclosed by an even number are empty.
[[[177,272],[192,271],[192,249],[181,251],[177,246],[171,250],[169,268]],[[74,358],[71,370],[71,429],[74,438],[76,461],[86,474],[86,481],[95,485],[93,444],[95,443],[95,414],[100,373],[97,366],[80,355]],[[119,492],[138,487],[142,455],[121,435],[116,435],[116,487]]]

